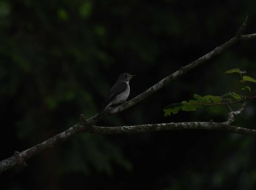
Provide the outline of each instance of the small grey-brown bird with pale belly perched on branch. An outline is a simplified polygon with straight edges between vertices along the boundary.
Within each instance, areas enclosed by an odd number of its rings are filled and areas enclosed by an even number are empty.
[[[110,88],[107,98],[102,104],[101,112],[106,111],[110,106],[124,103],[129,96],[129,80],[135,75],[124,73],[118,76],[116,83]]]

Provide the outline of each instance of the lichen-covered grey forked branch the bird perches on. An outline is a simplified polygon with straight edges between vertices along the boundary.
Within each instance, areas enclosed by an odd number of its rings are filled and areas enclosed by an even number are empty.
[[[241,108],[238,111],[232,111],[230,109],[229,115],[227,117],[226,122],[178,122],[178,123],[160,123],[160,124],[140,124],[140,125],[132,125],[132,126],[120,126],[120,127],[100,127],[95,126],[94,124],[102,119],[104,116],[117,114],[125,109],[134,106],[135,104],[139,103],[140,101],[148,98],[148,96],[152,95],[154,92],[157,92],[162,87],[165,87],[167,84],[170,84],[175,79],[186,74],[188,71],[191,71],[193,68],[200,66],[203,63],[206,63],[207,60],[216,57],[217,55],[224,52],[227,48],[233,46],[238,41],[247,41],[256,39],[256,33],[244,35],[244,31],[246,28],[247,18],[245,19],[244,23],[241,25],[241,28],[229,41],[225,42],[219,47],[216,47],[211,52],[208,52],[206,55],[203,55],[201,58],[189,63],[187,66],[183,66],[178,71],[170,74],[170,76],[165,77],[161,81],[154,84],[152,87],[148,88],[145,92],[142,92],[140,95],[136,96],[132,100],[129,100],[126,103],[123,103],[121,106],[117,106],[112,108],[108,114],[96,114],[89,119],[86,119],[85,116],[80,116],[80,122],[75,124],[69,129],[61,132],[48,140],[45,140],[42,143],[38,143],[36,146],[33,146],[25,151],[18,152],[15,151],[12,157],[4,159],[0,162],[0,173],[4,172],[5,170],[9,170],[11,167],[15,165],[23,165],[26,166],[26,160],[34,157],[36,154],[39,154],[46,149],[50,149],[54,146],[59,145],[60,143],[64,142],[65,140],[71,138],[72,136],[80,133],[80,132],[91,132],[91,133],[98,133],[98,134],[122,134],[122,133],[135,133],[135,132],[150,132],[150,131],[159,131],[159,130],[189,130],[189,129],[203,129],[203,130],[224,130],[227,132],[235,132],[238,134],[244,135],[253,135],[256,136],[256,130],[246,129],[241,127],[236,127],[230,125],[234,122],[235,116],[241,114],[244,110],[246,103],[243,103]]]

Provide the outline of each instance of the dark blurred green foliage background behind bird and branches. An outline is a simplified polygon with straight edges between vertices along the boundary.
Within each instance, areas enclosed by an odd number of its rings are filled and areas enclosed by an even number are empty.
[[[0,1],[0,159],[93,116],[118,74],[135,97],[231,39],[256,1]],[[225,121],[227,111],[163,116],[170,103],[239,92],[256,77],[255,41],[236,44],[98,124]],[[253,88],[253,86],[252,86]],[[255,87],[254,87],[255,88]],[[255,100],[236,124],[255,128]],[[0,189],[256,189],[256,140],[205,130],[80,134],[0,176]]]

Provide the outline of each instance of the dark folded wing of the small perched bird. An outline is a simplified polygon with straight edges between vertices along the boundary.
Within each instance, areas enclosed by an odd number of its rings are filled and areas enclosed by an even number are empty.
[[[116,98],[117,95],[121,94],[121,92],[124,92],[127,88],[126,82],[116,82],[113,87],[110,89],[110,92],[108,93],[107,98],[102,103],[102,108],[106,108],[108,104]]]

